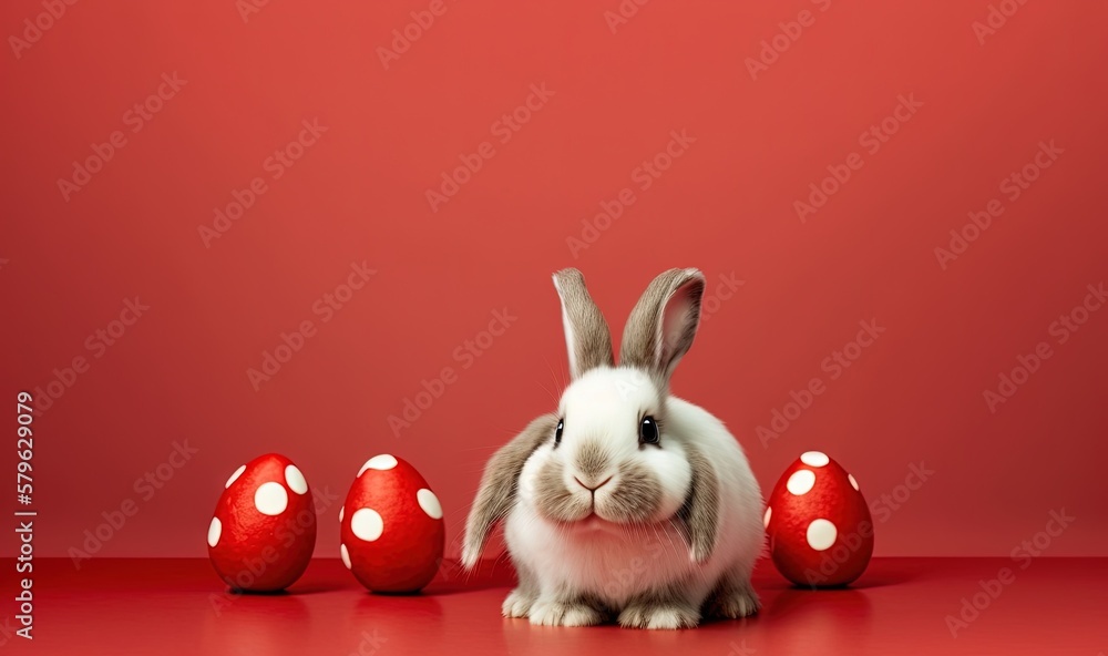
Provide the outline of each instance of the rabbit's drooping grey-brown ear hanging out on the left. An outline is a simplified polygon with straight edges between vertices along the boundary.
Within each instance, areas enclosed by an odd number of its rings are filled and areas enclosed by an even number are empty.
[[[523,463],[540,444],[554,435],[557,422],[558,419],[554,414],[544,414],[535,419],[489,459],[484,475],[481,476],[476,500],[465,521],[462,565],[466,570],[476,565],[493,524],[506,516],[515,505]]]

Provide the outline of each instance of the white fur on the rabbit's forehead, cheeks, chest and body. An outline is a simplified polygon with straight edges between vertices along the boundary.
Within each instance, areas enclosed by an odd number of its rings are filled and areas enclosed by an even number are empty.
[[[699,608],[726,575],[749,584],[763,542],[762,498],[742,448],[718,419],[670,396],[661,449],[639,449],[638,419],[644,412],[657,411],[652,408],[657,404],[654,382],[628,368],[587,371],[563,394],[562,444],[555,450],[553,441],[544,443],[527,459],[517,501],[504,526],[513,562],[530,572],[538,586],[537,599],[530,608],[532,622],[536,615],[540,623],[548,622],[551,605],[572,594],[594,595],[618,612],[637,594],[679,583],[685,601]],[[551,458],[564,463],[566,489],[587,499],[589,492],[572,478],[572,463],[576,447],[589,440],[599,440],[614,462],[635,460],[659,476],[664,503],[653,523],[632,526],[592,517],[585,523],[556,524],[538,514],[536,472]],[[704,563],[693,560],[688,544],[668,521],[689,491],[691,468],[684,443],[708,458],[719,480],[717,543]],[[599,517],[604,517],[605,495],[618,484],[616,478],[597,489],[595,512]],[[522,615],[525,606],[516,602],[514,614]]]

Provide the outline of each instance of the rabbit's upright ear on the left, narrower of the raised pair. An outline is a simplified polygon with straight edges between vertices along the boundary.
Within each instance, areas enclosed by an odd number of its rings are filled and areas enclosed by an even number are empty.
[[[577,269],[562,269],[554,274],[554,288],[562,299],[571,378],[576,379],[595,367],[611,367],[612,335],[604,315],[585,289],[585,277]]]

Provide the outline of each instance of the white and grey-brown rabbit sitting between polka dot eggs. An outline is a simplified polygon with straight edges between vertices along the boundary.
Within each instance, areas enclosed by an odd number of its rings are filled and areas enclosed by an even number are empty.
[[[519,578],[505,617],[676,629],[756,613],[758,481],[722,422],[669,394],[696,336],[704,275],[675,268],[650,283],[627,320],[618,366],[581,271],[553,277],[571,382],[556,412],[489,460],[462,565],[473,570],[503,520]]]

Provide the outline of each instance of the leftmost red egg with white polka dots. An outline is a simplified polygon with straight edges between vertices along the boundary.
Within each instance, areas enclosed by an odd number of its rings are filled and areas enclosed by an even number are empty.
[[[216,503],[207,545],[233,590],[275,592],[296,582],[316,546],[316,509],[300,469],[277,453],[236,469]]]

